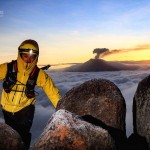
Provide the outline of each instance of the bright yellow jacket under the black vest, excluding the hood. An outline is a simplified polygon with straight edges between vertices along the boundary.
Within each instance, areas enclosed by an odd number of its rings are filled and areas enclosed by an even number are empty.
[[[2,108],[8,112],[17,112],[21,110],[22,108],[34,104],[36,102],[35,98],[27,98],[25,95],[25,88],[26,88],[26,82],[28,80],[28,77],[32,71],[32,69],[37,64],[37,59],[34,60],[32,63],[25,63],[20,55],[18,54],[17,58],[17,66],[18,66],[18,73],[17,73],[17,83],[14,85],[13,90],[10,93],[6,93],[4,89],[2,90],[2,96],[1,96],[1,105]],[[7,73],[7,63],[0,65],[0,80],[3,80]],[[18,82],[19,81],[19,82]],[[20,84],[20,82],[22,84]],[[24,85],[23,85],[24,84]],[[48,98],[51,100],[54,107],[57,106],[57,103],[60,99],[60,94],[58,89],[55,87],[52,79],[43,71],[40,69],[39,75],[36,81],[36,85],[38,87],[41,87]],[[22,92],[17,92],[22,91]]]

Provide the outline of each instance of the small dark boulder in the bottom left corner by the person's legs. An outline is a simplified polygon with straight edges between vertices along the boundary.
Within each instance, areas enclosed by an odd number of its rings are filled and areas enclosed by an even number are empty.
[[[22,150],[20,135],[5,123],[0,123],[0,150]]]

